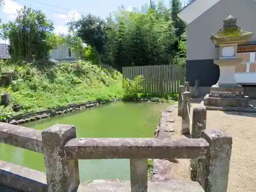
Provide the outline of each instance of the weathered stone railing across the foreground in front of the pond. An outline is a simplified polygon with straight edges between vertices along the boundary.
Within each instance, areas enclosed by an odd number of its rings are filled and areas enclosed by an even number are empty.
[[[131,191],[146,192],[148,158],[193,159],[195,180],[205,191],[226,191],[231,141],[218,130],[203,131],[195,139],[76,138],[73,125],[56,124],[38,131],[0,123],[0,142],[44,154],[46,167],[46,173],[41,173],[2,161],[0,184],[22,191],[76,191],[78,159],[130,159]]]

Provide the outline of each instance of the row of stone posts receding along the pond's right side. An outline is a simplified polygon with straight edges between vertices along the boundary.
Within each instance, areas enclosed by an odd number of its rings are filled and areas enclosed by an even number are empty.
[[[190,134],[189,127],[191,125],[191,138],[195,139],[203,137],[207,142],[209,142],[209,157],[207,161],[208,184],[206,190],[226,191],[228,185],[232,138],[220,130],[206,130],[207,110],[205,106],[195,106],[193,109],[193,116],[192,118],[190,117],[191,98],[188,90],[188,82],[185,82],[185,87],[179,86],[178,116],[182,117],[181,134]],[[201,166],[200,161],[201,160],[198,159],[190,160],[190,178],[193,181],[200,181],[200,178],[198,177],[198,171],[200,169],[199,166]],[[219,165],[221,166],[219,170],[212,170],[215,166]]]

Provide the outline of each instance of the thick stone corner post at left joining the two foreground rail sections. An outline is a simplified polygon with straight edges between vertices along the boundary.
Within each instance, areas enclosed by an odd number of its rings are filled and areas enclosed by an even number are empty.
[[[73,138],[73,125],[56,124],[42,131],[48,192],[76,191],[79,186],[78,160],[66,160],[64,154],[64,145]]]

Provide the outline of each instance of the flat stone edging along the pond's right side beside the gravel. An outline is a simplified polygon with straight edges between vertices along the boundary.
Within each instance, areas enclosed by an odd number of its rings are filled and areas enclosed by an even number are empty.
[[[174,110],[177,110],[178,105],[174,104],[168,106],[168,108],[162,111],[159,124],[155,130],[155,137],[158,139],[169,139],[172,135],[171,132],[174,132],[174,122],[175,116],[173,114]],[[171,176],[172,162],[176,162],[173,159],[154,159],[153,162],[153,172],[151,181],[170,181],[173,180]]]

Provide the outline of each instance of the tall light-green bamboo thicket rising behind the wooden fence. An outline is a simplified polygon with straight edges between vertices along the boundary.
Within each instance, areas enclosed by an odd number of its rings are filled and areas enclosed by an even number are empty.
[[[106,23],[105,55],[111,66],[121,70],[124,66],[173,62],[176,37],[172,18],[162,1],[154,9],[151,7],[154,5],[149,6],[147,12],[118,10]]]

